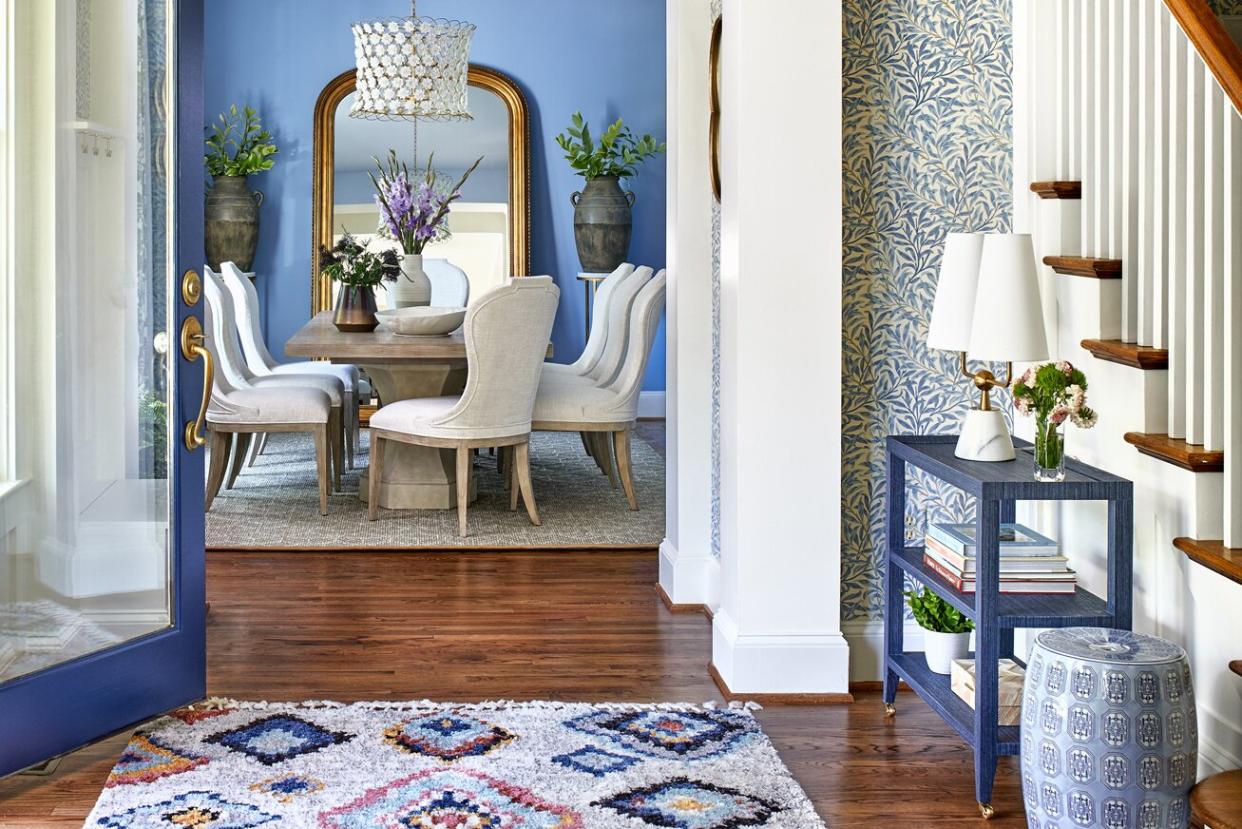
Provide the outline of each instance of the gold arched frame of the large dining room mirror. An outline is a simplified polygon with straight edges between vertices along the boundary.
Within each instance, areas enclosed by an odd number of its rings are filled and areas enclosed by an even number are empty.
[[[358,70],[342,72],[323,88],[314,104],[314,178],[310,184],[310,313],[332,307],[332,281],[319,272],[319,246],[332,239],[333,167],[337,149],[337,107],[354,91]],[[469,65],[471,86],[499,97],[509,109],[509,268],[530,273],[530,116],[520,87],[503,72]]]

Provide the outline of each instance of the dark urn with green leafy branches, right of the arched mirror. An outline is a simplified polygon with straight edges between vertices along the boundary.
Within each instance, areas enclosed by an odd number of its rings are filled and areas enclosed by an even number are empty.
[[[586,179],[586,188],[570,196],[578,259],[587,273],[610,273],[630,256],[633,235],[635,194],[621,189],[621,179],[637,175],[638,165],[663,153],[664,144],[650,134],[637,138],[621,118],[596,142],[581,112],[574,113],[556,143]]]

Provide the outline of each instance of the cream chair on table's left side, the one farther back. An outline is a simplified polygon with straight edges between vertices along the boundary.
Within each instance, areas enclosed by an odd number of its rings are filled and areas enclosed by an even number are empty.
[[[268,374],[325,374],[337,378],[345,387],[345,401],[342,415],[345,421],[345,462],[354,469],[354,451],[358,449],[358,405],[363,383],[355,365],[334,365],[333,363],[314,363],[310,360],[278,363],[263,339],[263,327],[260,324],[258,291],[232,262],[220,263],[220,277],[232,296],[233,312],[237,318],[237,336],[241,341],[242,357],[246,367],[256,377]],[[262,439],[256,441],[255,454],[262,450]]]

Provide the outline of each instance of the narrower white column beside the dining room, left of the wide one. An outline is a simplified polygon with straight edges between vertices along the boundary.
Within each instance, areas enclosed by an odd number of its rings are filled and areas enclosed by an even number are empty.
[[[667,528],[660,585],[715,604],[712,554],[710,0],[668,4]]]

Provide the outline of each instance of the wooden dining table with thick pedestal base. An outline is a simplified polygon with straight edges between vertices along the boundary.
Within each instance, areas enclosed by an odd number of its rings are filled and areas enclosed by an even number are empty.
[[[380,327],[338,331],[332,311],[320,311],[284,343],[288,357],[356,365],[370,378],[381,405],[414,398],[460,395],[466,388],[466,336],[411,337]],[[551,346],[548,347],[549,355]],[[359,497],[368,498],[368,472],[359,476]],[[385,510],[455,510],[456,457],[451,449],[386,441],[380,506]],[[477,497],[471,480],[469,498]]]

